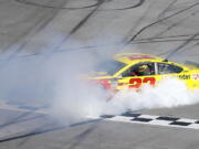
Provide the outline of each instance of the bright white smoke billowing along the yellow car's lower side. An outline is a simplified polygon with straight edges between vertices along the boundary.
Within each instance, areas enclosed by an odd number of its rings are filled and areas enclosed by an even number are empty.
[[[122,91],[106,106],[111,114],[126,110],[140,110],[161,107],[191,105],[199,102],[199,93],[188,91],[186,84],[177,78],[166,78],[158,86],[144,86],[142,92]]]

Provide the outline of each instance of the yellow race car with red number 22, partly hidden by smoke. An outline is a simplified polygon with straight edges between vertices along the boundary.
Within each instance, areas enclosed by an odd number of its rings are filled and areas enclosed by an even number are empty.
[[[176,77],[191,91],[199,89],[199,64],[181,65],[140,53],[114,55],[113,60],[96,66],[90,79],[108,91],[138,89],[143,85],[158,85],[166,77]]]

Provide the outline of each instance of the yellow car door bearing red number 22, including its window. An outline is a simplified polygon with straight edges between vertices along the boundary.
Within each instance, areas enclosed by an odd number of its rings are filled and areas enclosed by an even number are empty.
[[[144,73],[138,74],[137,70],[142,66],[147,66]],[[122,73],[121,79],[118,79],[118,89],[125,88],[140,88],[145,84],[155,85],[156,83],[156,68],[155,63],[145,62],[137,63]]]

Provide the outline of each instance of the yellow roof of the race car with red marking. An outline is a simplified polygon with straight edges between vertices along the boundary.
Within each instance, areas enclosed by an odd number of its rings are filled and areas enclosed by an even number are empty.
[[[142,53],[123,53],[114,56],[116,61],[125,64],[138,63],[138,62],[163,62],[164,58]]]

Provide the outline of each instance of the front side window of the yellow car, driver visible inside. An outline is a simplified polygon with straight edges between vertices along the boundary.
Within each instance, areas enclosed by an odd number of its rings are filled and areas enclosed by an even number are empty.
[[[155,75],[155,63],[139,63],[128,68],[123,76],[147,76]]]

